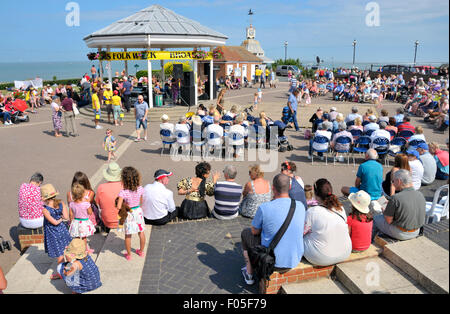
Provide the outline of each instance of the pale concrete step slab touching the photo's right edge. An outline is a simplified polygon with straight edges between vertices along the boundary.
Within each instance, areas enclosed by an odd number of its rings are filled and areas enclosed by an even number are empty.
[[[449,293],[448,251],[425,237],[387,244],[383,256],[431,293]]]

